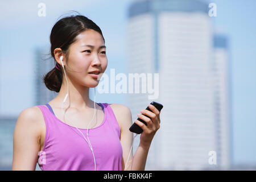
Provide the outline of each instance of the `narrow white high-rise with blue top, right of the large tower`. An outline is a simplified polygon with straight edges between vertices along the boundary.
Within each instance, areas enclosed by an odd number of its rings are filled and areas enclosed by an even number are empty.
[[[231,65],[228,40],[224,35],[214,35],[214,77],[217,123],[217,162],[221,169],[232,165],[232,118],[231,118]]]

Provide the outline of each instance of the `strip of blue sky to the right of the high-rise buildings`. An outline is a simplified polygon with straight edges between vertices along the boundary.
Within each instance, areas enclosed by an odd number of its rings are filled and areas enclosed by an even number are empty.
[[[217,31],[229,38],[235,163],[256,163],[256,1],[212,1]]]

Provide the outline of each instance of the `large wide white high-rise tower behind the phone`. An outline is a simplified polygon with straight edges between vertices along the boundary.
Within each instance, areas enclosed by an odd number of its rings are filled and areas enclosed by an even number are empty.
[[[218,158],[224,152],[220,138],[229,134],[220,135],[222,125],[216,122],[208,11],[207,4],[196,0],[138,1],[129,8],[128,73],[159,73],[159,98],[154,101],[164,106],[145,169],[218,169],[228,163]],[[128,94],[133,119],[151,101],[148,94]],[[139,137],[135,147],[138,142]]]

